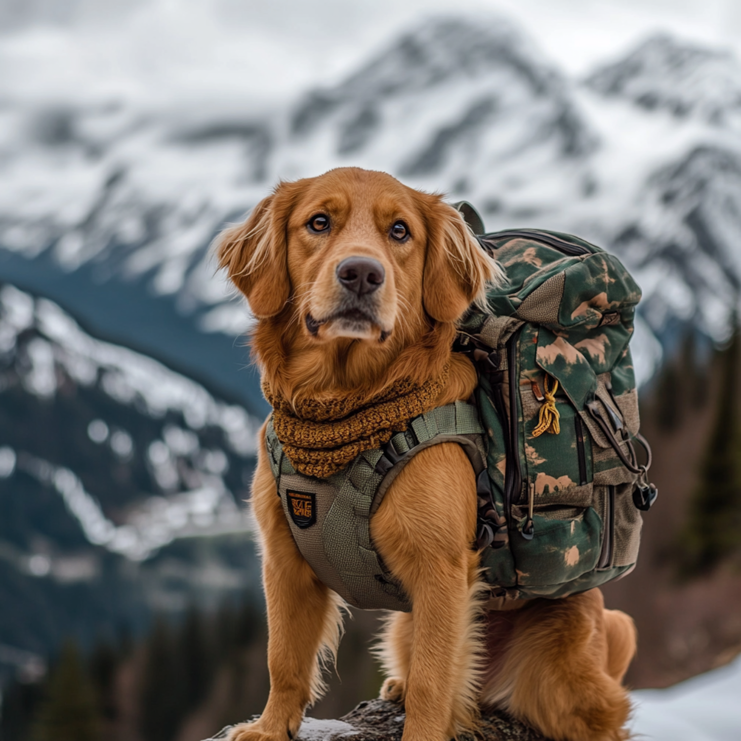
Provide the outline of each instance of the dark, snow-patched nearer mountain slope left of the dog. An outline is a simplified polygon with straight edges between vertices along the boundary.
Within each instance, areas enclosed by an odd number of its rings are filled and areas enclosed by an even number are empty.
[[[258,424],[1,285],[0,644],[43,654],[254,588]]]

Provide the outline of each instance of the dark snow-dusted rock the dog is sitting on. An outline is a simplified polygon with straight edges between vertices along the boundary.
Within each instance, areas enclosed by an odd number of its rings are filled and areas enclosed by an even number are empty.
[[[255,716],[257,717],[257,716]],[[404,730],[404,708],[385,700],[365,700],[340,720],[305,718],[296,741],[400,741]],[[225,739],[232,726],[227,726],[207,741]],[[499,711],[482,716],[478,734],[482,741],[548,741],[524,723]],[[459,741],[474,741],[465,734]]]

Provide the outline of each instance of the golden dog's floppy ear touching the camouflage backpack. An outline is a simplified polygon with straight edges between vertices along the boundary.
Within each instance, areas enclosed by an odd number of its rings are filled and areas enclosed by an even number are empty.
[[[479,245],[460,213],[439,196],[431,196],[426,211],[422,300],[433,319],[456,322],[473,302],[485,300],[487,285],[502,280],[502,268]]]

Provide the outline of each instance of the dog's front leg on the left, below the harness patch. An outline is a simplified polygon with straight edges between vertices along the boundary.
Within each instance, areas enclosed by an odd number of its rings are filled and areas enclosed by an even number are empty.
[[[342,601],[316,579],[296,548],[265,451],[260,453],[252,501],[262,536],[270,696],[259,720],[237,725],[229,741],[293,738],[306,706],[322,694],[322,654],[336,651],[342,629]]]

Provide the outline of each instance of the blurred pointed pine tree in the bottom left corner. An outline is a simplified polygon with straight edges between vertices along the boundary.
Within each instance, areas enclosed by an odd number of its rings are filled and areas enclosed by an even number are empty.
[[[101,741],[96,698],[73,641],[62,646],[39,708],[33,741]]]

